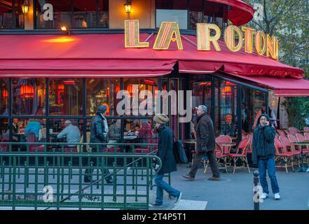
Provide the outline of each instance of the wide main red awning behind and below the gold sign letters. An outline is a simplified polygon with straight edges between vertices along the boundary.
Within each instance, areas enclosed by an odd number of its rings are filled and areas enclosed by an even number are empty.
[[[170,50],[125,48],[124,34],[0,35],[0,77],[61,75],[79,77],[162,76],[175,62],[179,73],[222,71],[240,76],[268,75],[303,78],[303,70],[269,57],[231,52],[220,40],[221,51],[196,50],[196,36],[182,36],[184,50],[171,42]],[[149,34],[141,34],[144,41]]]

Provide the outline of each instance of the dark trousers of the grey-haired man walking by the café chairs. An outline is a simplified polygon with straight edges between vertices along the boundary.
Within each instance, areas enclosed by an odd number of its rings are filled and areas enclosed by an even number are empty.
[[[219,168],[217,165],[216,157],[214,156],[214,151],[210,151],[207,153],[198,151],[197,153],[195,153],[194,158],[193,158],[193,164],[189,172],[189,175],[193,178],[195,177],[195,174],[198,171],[198,167],[200,167],[200,162],[202,161],[202,157],[205,154],[207,155],[207,158],[210,161],[210,169],[212,169],[212,176],[219,177],[220,172],[219,172]]]

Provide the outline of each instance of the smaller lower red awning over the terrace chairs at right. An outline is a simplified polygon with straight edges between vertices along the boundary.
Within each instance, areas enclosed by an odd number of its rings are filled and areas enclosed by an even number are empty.
[[[309,80],[267,76],[237,77],[270,87],[273,89],[275,97],[309,97]]]

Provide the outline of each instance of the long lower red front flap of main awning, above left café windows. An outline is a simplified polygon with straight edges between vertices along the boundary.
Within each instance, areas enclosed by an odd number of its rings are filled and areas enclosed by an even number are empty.
[[[0,77],[156,77],[171,73],[175,63],[175,60],[135,59],[1,59]]]

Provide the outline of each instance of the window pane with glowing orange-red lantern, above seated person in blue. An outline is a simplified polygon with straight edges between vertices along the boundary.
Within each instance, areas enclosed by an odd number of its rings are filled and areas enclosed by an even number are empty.
[[[45,78],[13,78],[13,114],[45,115]]]

